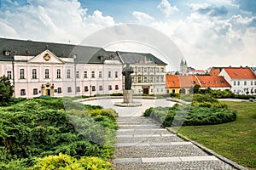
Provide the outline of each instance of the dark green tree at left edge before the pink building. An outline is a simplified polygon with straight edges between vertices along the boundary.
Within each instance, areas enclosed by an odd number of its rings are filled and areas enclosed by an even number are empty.
[[[11,85],[8,77],[0,77],[0,105],[9,103],[9,99],[14,94],[14,87]]]

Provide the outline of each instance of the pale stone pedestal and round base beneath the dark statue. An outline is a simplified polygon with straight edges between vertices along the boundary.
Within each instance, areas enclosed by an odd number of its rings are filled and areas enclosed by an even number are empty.
[[[123,90],[124,102],[115,102],[114,105],[120,107],[137,107],[142,106],[140,102],[133,102],[133,90]]]

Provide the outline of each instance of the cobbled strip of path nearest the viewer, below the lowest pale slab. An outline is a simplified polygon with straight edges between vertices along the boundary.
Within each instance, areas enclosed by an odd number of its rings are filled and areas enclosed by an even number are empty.
[[[172,161],[172,162],[119,162],[113,163],[116,170],[234,170],[223,161]]]

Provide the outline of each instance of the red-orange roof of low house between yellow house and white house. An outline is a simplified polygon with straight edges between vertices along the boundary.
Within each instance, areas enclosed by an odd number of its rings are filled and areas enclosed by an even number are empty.
[[[197,76],[201,88],[230,88],[230,83],[220,76]]]

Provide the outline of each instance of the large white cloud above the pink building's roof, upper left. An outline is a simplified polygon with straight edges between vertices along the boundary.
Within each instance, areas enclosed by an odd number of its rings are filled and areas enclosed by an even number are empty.
[[[9,31],[0,31],[0,37],[79,43],[90,33],[115,24],[113,17],[104,16],[101,11],[87,14],[88,9],[82,8],[77,0],[48,3],[30,0],[28,3],[13,11],[0,12],[3,28],[9,27]]]

